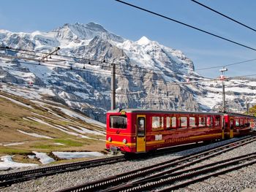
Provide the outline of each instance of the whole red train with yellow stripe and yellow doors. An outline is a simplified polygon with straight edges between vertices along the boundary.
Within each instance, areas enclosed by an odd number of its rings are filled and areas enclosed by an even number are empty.
[[[106,147],[145,153],[192,142],[249,134],[256,118],[236,113],[123,109],[107,112]]]

